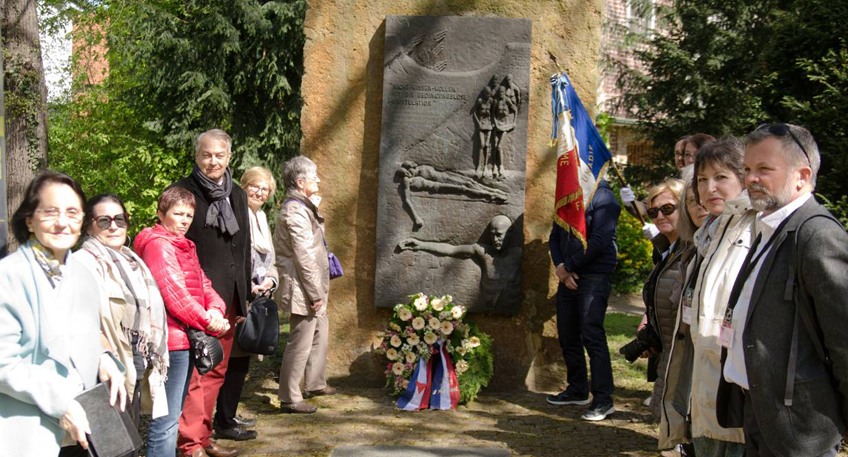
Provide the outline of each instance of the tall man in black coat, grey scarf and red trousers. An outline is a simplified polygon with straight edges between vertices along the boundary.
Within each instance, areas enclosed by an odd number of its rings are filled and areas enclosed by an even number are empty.
[[[202,451],[205,451],[213,457],[233,457],[239,453],[210,440],[212,412],[227,372],[235,324],[247,313],[250,292],[247,194],[233,184],[228,166],[231,150],[232,139],[223,130],[213,129],[200,134],[195,146],[194,170],[175,184],[194,194],[194,220],[186,237],[197,246],[200,266],[212,281],[212,288],[227,303],[230,323],[229,331],[219,337],[224,348],[223,362],[204,376],[195,371],[191,377],[177,442],[183,455],[204,455]],[[236,405],[240,394],[239,386],[234,400]],[[231,405],[233,413],[236,405]],[[218,408],[221,409],[220,403]]]

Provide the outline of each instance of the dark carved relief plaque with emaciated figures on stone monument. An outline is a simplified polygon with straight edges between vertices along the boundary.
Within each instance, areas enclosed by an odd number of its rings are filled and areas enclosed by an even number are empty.
[[[530,33],[529,19],[386,18],[378,307],[424,292],[518,310]]]

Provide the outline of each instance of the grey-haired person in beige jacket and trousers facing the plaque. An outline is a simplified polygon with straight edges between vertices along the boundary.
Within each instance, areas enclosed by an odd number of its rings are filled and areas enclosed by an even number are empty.
[[[330,266],[324,241],[324,218],[318,212],[317,167],[306,157],[283,165],[286,200],[274,230],[280,288],[277,300],[291,313],[291,330],[280,367],[280,403],[284,413],[308,414],[318,408],[303,401],[300,381],[306,374],[306,395],[332,395],[327,386],[327,297]]]

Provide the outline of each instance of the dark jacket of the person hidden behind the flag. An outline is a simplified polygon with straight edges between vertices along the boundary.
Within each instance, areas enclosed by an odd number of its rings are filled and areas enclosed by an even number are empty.
[[[554,266],[564,263],[566,270],[578,274],[611,274],[615,271],[618,262],[615,229],[619,214],[621,205],[609,184],[602,179],[586,208],[585,251],[577,237],[554,224],[548,240]]]

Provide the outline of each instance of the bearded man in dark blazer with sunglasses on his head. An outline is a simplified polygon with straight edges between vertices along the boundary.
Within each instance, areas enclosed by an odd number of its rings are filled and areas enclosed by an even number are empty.
[[[756,238],[719,340],[722,426],[757,456],[833,456],[848,418],[848,234],[812,196],[820,157],[807,129],[748,135]],[[728,285],[730,287],[730,285]]]

